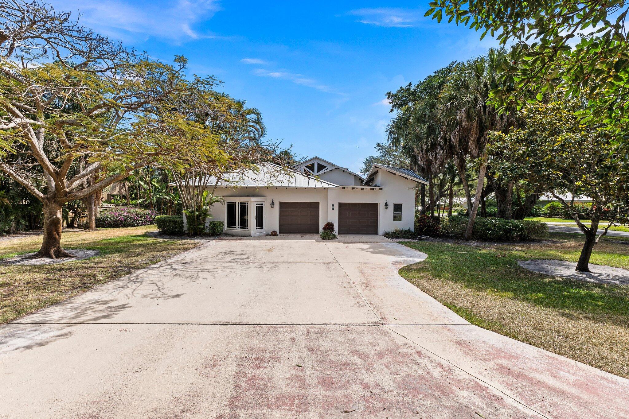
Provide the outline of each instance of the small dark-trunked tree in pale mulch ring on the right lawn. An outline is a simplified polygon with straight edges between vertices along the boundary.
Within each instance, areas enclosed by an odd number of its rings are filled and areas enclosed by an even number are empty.
[[[584,106],[564,99],[563,92],[545,104],[525,106],[521,117],[526,125],[508,134],[494,133],[491,145],[493,165],[504,177],[527,180],[572,215],[585,236],[577,271],[589,270],[594,245],[613,223],[626,222],[629,213],[629,166],[615,157],[613,133],[579,123],[574,114]],[[582,196],[592,199],[589,226],[574,202]]]

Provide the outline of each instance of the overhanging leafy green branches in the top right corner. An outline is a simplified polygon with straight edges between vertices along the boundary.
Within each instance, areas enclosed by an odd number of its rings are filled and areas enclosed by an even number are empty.
[[[583,97],[582,123],[604,124],[629,140],[629,42],[624,0],[568,2],[438,0],[426,16],[489,33],[503,45],[515,42],[491,92],[499,107],[542,101],[557,86]],[[577,36],[584,34],[580,40]],[[578,41],[577,41],[578,40]]]

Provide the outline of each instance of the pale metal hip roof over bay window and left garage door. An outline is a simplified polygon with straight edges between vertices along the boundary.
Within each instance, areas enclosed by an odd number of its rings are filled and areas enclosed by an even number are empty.
[[[335,188],[335,183],[325,182],[313,176],[305,175],[294,169],[282,168],[273,163],[261,163],[258,170],[248,169],[225,173],[218,183],[216,177],[209,176],[202,180],[205,186],[222,187],[287,187],[287,188]],[[175,185],[175,183],[170,183]]]

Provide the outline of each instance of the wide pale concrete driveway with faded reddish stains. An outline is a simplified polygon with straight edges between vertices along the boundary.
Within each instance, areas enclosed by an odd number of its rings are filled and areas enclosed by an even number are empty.
[[[0,327],[3,418],[629,417],[629,380],[470,325],[384,237],[217,239]]]

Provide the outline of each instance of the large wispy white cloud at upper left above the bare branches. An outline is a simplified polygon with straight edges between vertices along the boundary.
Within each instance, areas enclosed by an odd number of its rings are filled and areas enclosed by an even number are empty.
[[[52,4],[74,17],[80,13],[81,24],[116,39],[154,36],[180,42],[218,38],[195,29],[220,10],[217,0],[52,0]]]

